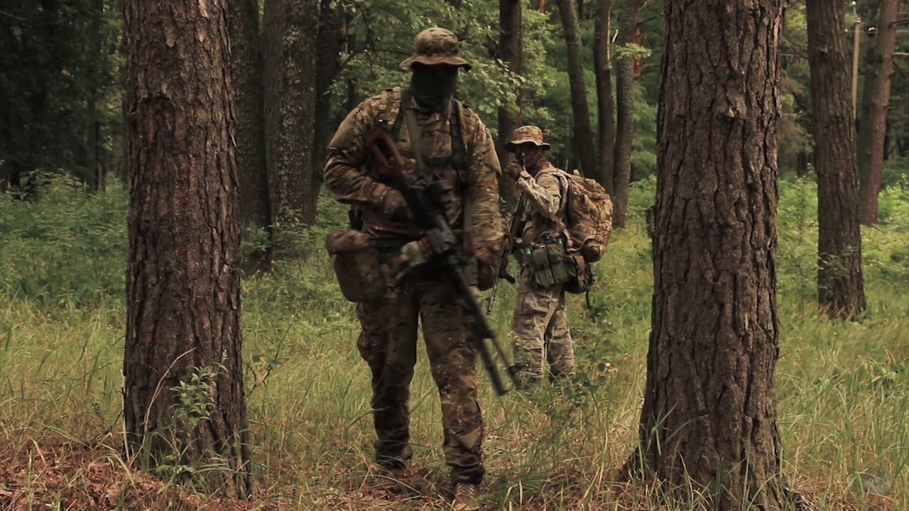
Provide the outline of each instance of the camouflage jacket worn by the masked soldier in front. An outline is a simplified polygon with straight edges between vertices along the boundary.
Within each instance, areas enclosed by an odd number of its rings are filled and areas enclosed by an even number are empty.
[[[398,115],[401,92],[399,87],[386,89],[351,111],[335,132],[325,163],[325,187],[343,203],[365,206],[363,230],[373,238],[400,239],[415,235],[411,225],[395,222],[382,214],[382,197],[388,186],[378,182],[367,168],[366,135],[380,121],[385,121],[387,125],[400,123],[392,133],[397,134],[398,150],[405,158],[404,171],[417,175],[405,115]],[[497,175],[501,170],[492,136],[474,112],[466,107],[462,109],[460,125],[468,169],[467,189],[463,190],[452,152],[449,116],[454,105],[450,103],[445,113],[441,114],[421,110],[415,100],[412,100],[412,105],[416,107],[416,119],[420,124],[425,173],[429,174],[417,177],[445,182],[452,187],[454,196],[447,213],[456,230],[463,229],[464,202],[469,198],[467,217],[471,218],[474,253],[484,263],[495,265],[503,242],[504,226],[499,212],[497,185]]]

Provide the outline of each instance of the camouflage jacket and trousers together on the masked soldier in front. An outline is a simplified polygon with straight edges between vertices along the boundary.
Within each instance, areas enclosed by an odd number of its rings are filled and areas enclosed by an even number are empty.
[[[446,203],[453,229],[461,236],[464,217],[470,218],[474,255],[481,271],[483,267],[494,268],[504,242],[504,223],[498,207],[498,156],[491,135],[472,111],[466,107],[461,110],[459,125],[469,168],[467,189],[463,189],[454,166],[449,122],[456,110],[449,105],[445,112],[434,114],[421,110],[412,101],[427,174],[418,175],[405,115],[398,115],[401,93],[400,88],[387,89],[347,115],[329,146],[325,187],[341,202],[364,206],[363,231],[380,246],[380,251],[391,246],[390,255],[394,255],[407,240],[422,237],[423,233],[415,232],[414,225],[406,220],[384,215],[382,202],[390,188],[376,181],[367,168],[368,132],[380,122],[401,123],[393,133],[397,133],[396,144],[405,157],[404,172],[418,180],[442,182],[453,190]],[[469,215],[463,215],[465,204],[470,205]],[[399,241],[400,245],[395,245]],[[438,271],[427,267],[406,276],[381,299],[357,305],[362,328],[358,347],[373,376],[372,406],[378,436],[375,454],[379,463],[388,467],[405,466],[411,456],[407,400],[416,361],[417,325],[422,322],[442,401],[445,459],[451,467],[452,482],[477,484],[484,468],[475,348],[467,340],[466,312],[460,297],[454,286],[439,278]]]

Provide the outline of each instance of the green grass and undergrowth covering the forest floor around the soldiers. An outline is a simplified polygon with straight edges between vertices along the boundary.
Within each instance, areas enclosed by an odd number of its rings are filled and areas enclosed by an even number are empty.
[[[583,385],[498,399],[482,376],[488,506],[651,508],[650,490],[614,486],[610,475],[634,445],[643,396],[652,286],[643,210],[652,185],[635,185],[629,225],[598,265],[594,314],[583,296],[570,296]],[[784,181],[780,189],[776,392],[785,474],[819,509],[909,509],[909,191],[885,190],[884,224],[863,231],[869,309],[843,323],[816,314],[814,185]],[[443,508],[447,469],[425,352],[412,394],[421,470],[410,487],[375,489],[368,369],[356,353],[353,306],[321,249],[344,211],[328,201],[323,211],[323,224],[301,239],[316,247],[305,262],[279,262],[271,275],[243,284],[258,502]],[[107,446],[119,463],[125,212],[122,190],[89,198],[65,183],[40,204],[0,201],[4,466],[32,466],[60,438]],[[513,305],[514,290],[504,285],[492,318],[501,339]],[[869,496],[866,486],[882,481],[887,496]],[[35,504],[46,498],[35,496]]]

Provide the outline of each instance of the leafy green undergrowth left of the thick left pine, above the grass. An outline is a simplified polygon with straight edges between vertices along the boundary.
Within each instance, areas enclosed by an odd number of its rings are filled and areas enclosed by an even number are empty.
[[[40,204],[0,197],[0,295],[76,308],[121,302],[125,204],[119,186],[91,197],[65,175],[50,180]]]

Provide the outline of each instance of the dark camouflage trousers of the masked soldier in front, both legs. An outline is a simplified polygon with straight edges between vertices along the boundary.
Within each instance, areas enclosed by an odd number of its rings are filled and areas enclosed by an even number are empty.
[[[409,444],[407,398],[416,363],[417,323],[442,400],[443,448],[454,484],[479,484],[484,467],[483,416],[476,399],[474,346],[466,336],[467,313],[451,286],[407,282],[379,302],[357,305],[362,332],[357,347],[373,373],[376,461],[406,466]]]

